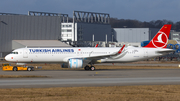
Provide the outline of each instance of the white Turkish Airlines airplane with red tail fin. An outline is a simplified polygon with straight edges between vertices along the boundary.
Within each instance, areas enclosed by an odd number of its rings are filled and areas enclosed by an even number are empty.
[[[19,48],[5,57],[15,63],[62,63],[62,68],[95,70],[96,63],[124,63],[146,60],[174,52],[167,49],[171,25],[164,25],[144,47]],[[90,65],[90,66],[89,66]]]

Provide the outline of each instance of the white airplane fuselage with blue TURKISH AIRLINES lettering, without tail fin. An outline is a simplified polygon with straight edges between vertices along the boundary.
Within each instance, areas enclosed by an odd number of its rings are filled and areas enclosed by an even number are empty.
[[[119,47],[20,48],[8,54],[5,59],[17,63],[63,63],[68,62],[68,60],[72,58],[84,59],[106,56],[118,52],[119,49]],[[102,57],[98,60],[101,60],[103,63],[133,62],[168,54],[158,53],[157,51],[159,50],[171,49],[126,47],[122,54],[112,57]]]

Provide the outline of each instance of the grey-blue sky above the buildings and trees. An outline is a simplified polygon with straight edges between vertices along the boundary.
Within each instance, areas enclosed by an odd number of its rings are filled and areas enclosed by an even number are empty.
[[[28,11],[63,13],[73,11],[109,13],[118,19],[180,21],[180,0],[0,0],[0,12]]]

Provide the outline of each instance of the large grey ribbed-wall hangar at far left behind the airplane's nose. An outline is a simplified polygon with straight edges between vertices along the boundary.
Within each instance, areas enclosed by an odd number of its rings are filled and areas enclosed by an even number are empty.
[[[13,40],[58,40],[61,36],[59,16],[34,16],[1,13],[0,57],[12,51]],[[51,14],[51,13],[46,13]]]

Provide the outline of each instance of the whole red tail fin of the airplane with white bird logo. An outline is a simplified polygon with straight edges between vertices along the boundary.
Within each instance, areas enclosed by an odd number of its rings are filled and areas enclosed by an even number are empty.
[[[171,30],[171,25],[164,25],[159,32],[154,36],[154,38],[149,42],[148,45],[144,46],[146,48],[166,48],[169,33]]]

